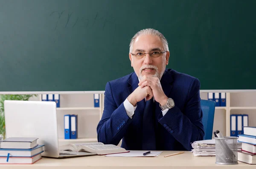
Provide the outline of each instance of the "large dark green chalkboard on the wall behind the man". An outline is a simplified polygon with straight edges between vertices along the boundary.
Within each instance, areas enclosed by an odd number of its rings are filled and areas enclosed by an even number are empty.
[[[256,89],[256,0],[0,0],[0,91],[103,91],[154,28],[201,89]]]

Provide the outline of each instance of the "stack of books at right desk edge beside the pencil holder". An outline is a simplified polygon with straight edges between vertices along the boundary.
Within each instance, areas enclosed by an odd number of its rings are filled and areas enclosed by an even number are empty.
[[[244,134],[239,135],[242,143],[241,151],[237,152],[237,159],[248,164],[256,164],[256,127],[244,127]]]

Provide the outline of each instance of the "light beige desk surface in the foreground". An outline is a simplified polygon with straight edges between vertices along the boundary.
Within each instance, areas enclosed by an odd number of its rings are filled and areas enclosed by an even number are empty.
[[[165,155],[176,153],[164,151],[158,157],[105,157],[100,155],[76,158],[43,158],[34,164],[1,164],[1,169],[243,169],[256,167],[241,163],[237,165],[215,164],[215,157],[194,157],[192,152],[164,158]]]

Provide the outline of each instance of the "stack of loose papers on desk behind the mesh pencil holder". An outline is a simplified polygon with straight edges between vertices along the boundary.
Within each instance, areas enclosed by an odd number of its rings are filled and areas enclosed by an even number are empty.
[[[194,156],[215,156],[215,139],[200,140],[192,143]],[[241,150],[242,144],[237,143],[237,149]]]

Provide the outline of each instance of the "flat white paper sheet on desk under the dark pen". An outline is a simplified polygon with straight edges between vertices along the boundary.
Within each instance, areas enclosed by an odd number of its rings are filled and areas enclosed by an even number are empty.
[[[149,154],[143,155],[144,152],[148,152],[148,151],[131,150],[130,152],[126,152],[126,153],[118,153],[118,154],[111,154],[111,155],[105,155],[105,156],[106,157],[157,157],[162,153],[162,152],[150,151]]]

